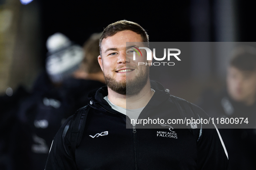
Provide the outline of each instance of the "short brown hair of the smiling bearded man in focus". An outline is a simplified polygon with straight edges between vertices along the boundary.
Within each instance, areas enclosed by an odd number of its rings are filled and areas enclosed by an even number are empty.
[[[145,31],[144,28],[142,28],[139,24],[137,24],[135,22],[121,20],[121,21],[117,21],[117,22],[114,22],[114,23],[108,25],[104,29],[104,31],[100,37],[100,55],[101,55],[102,40],[104,38],[111,37],[111,36],[117,34],[117,32],[125,31],[125,30],[130,30],[130,31],[136,32],[137,34],[140,34],[142,41],[147,42],[147,46],[149,46],[148,45],[149,44],[149,35],[147,34],[147,32]]]

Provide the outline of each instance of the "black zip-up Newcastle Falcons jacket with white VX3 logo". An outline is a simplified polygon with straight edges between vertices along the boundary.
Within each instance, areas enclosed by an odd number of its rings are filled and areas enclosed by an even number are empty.
[[[151,82],[151,88],[155,93],[139,119],[208,117],[194,104],[171,96],[161,84]],[[107,87],[91,93],[88,106],[81,109],[90,108],[75,151],[71,149],[69,128],[73,116],[63,124],[53,140],[45,170],[226,170],[227,153],[213,124],[207,129],[204,125],[181,129],[175,124],[171,129],[158,123],[133,127],[128,116],[113,110],[104,100],[106,95]],[[179,108],[177,101],[182,103]],[[193,113],[183,114],[185,105]]]

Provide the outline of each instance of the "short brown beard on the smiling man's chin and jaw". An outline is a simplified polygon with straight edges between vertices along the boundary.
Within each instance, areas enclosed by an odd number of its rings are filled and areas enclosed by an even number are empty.
[[[109,75],[104,74],[104,79],[106,85],[113,91],[122,95],[134,95],[139,94],[139,92],[145,87],[149,79],[149,66],[146,69],[141,70],[139,75],[135,76],[132,80],[122,80],[117,82],[115,79]]]

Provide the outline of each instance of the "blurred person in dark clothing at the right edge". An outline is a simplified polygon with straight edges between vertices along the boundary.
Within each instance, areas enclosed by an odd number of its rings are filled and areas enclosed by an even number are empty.
[[[256,49],[237,47],[227,68],[227,88],[207,91],[199,106],[211,117],[244,118],[256,124]],[[256,170],[256,129],[219,129],[229,153],[229,170]],[[254,127],[256,128],[256,126]]]

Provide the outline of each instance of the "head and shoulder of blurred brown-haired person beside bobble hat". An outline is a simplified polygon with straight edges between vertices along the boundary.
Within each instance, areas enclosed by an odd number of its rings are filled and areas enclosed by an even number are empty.
[[[105,86],[104,75],[97,60],[97,56],[100,54],[99,39],[101,34],[92,34],[84,43],[85,54],[80,68],[73,73],[68,81],[64,82],[69,89],[69,94],[75,99],[75,110],[89,102],[87,96],[91,90]]]

